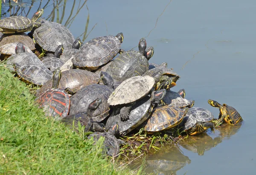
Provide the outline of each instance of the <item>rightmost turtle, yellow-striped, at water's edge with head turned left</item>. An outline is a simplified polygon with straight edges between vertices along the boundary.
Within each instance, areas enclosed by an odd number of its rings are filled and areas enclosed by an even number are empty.
[[[226,121],[229,125],[239,125],[243,121],[241,115],[237,112],[237,110],[227,104],[220,104],[214,100],[209,99],[208,103],[213,106],[217,107],[220,110],[219,119],[215,122],[215,126],[220,125],[223,120]]]

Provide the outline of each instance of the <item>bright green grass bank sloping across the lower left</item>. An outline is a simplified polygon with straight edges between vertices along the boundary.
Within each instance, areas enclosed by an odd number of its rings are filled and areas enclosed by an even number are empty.
[[[25,83],[0,64],[0,174],[140,174],[104,157],[101,142],[47,119]]]

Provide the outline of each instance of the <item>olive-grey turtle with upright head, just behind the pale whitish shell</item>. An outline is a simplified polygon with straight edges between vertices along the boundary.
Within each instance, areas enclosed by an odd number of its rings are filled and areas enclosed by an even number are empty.
[[[114,59],[106,72],[113,79],[120,82],[133,76],[142,76],[148,71],[148,59],[153,55],[145,54],[145,48],[146,40],[140,39],[139,51],[130,50],[120,54]]]

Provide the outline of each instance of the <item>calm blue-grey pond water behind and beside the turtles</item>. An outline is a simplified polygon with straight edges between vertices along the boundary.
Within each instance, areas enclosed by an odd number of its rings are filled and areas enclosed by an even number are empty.
[[[28,17],[47,2],[34,0]],[[67,22],[75,37],[82,39],[86,23],[85,42],[123,32],[122,48],[129,50],[137,47],[140,38],[145,37],[148,46],[153,46],[155,51],[150,62],[168,62],[168,67],[181,76],[173,90],[184,88],[186,99],[195,100],[195,107],[207,108],[215,117],[218,117],[218,109],[211,107],[208,99],[235,107],[243,117],[240,128],[226,127],[215,133],[191,137],[193,143],[181,144],[179,149],[166,147],[164,152],[147,160],[148,165],[155,159],[169,161],[169,167],[148,167],[147,172],[176,172],[178,175],[255,172],[256,1],[88,0],[83,6],[84,0],[67,0],[63,19],[64,1],[58,1],[59,18],[57,10],[52,17],[53,2],[56,7],[56,1],[50,0],[43,17],[62,24]],[[25,16],[31,1],[20,1],[20,5],[25,7],[22,8]],[[8,9],[6,3],[2,6],[2,14],[9,16],[17,6],[11,8],[11,12]],[[18,14],[20,11],[21,8]],[[178,161],[180,167],[170,166]]]

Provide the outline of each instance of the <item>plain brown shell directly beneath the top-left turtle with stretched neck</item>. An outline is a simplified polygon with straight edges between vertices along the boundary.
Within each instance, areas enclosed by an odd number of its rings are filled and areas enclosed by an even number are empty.
[[[27,46],[30,50],[35,50],[35,44],[32,38],[25,33],[3,34],[3,36],[0,38],[0,46],[13,42],[20,42]]]

